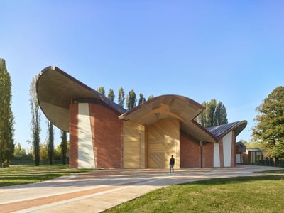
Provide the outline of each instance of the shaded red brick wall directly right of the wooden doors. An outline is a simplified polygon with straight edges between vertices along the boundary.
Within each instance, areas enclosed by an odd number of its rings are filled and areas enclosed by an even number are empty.
[[[200,168],[200,146],[180,136],[180,168]]]

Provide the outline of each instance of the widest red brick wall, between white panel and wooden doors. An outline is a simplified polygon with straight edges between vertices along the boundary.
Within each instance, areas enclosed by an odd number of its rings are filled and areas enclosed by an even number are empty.
[[[89,104],[97,168],[122,168],[122,121],[99,104]]]

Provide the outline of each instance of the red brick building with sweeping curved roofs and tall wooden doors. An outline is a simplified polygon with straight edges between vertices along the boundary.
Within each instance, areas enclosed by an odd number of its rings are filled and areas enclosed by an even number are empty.
[[[127,111],[58,67],[36,83],[40,109],[70,133],[70,168],[233,167],[236,136],[246,121],[204,129],[201,104],[166,94]]]

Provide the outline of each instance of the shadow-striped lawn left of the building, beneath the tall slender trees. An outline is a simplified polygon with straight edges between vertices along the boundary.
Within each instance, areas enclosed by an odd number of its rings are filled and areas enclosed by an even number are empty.
[[[0,169],[0,187],[41,182],[72,173],[83,173],[87,169],[70,169],[68,165],[10,165]]]

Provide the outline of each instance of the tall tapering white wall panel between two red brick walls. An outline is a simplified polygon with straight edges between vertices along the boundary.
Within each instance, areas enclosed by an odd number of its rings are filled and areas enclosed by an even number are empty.
[[[95,168],[89,104],[78,109],[78,168]]]

